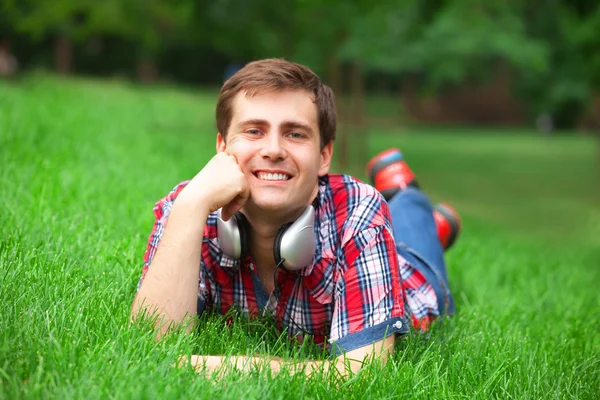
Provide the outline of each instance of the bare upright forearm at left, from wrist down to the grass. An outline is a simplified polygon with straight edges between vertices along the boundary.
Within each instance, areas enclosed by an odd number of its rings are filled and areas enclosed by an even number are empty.
[[[183,196],[175,201],[151,268],[133,301],[132,319],[141,312],[158,317],[156,323],[162,334],[171,323],[196,315],[202,234],[207,216],[204,207],[188,202]]]

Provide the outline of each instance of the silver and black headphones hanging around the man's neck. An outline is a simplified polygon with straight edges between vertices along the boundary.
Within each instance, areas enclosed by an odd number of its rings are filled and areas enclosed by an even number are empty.
[[[241,212],[223,221],[221,209],[217,211],[217,236],[227,256],[239,260],[248,254],[249,232],[250,223]],[[275,263],[290,271],[307,267],[315,256],[315,242],[315,209],[309,205],[296,221],[279,228],[273,244]]]

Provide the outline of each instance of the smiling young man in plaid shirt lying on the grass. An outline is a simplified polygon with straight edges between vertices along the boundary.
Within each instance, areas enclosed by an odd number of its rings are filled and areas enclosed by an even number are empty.
[[[337,357],[292,368],[346,373],[367,358],[386,361],[407,317],[426,328],[452,312],[434,212],[400,152],[368,168],[389,208],[372,186],[329,174],[334,97],[312,71],[250,63],[223,85],[216,117],[217,154],[154,208],[133,318],[158,314],[164,333],[206,309],[270,315]],[[261,360],[191,361],[210,370]]]

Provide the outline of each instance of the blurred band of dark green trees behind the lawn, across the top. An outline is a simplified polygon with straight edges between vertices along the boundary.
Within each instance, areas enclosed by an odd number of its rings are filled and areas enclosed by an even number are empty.
[[[548,131],[600,115],[595,0],[0,0],[0,43],[20,70],[212,86],[284,57],[347,95],[357,126],[369,93],[413,122]]]

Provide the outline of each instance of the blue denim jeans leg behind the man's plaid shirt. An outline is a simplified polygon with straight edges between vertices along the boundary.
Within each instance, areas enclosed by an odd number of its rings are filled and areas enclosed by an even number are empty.
[[[433,207],[419,189],[407,187],[388,202],[396,249],[431,284],[441,314],[454,313],[448,286],[444,249],[437,236]]]

